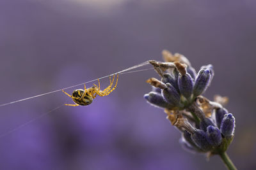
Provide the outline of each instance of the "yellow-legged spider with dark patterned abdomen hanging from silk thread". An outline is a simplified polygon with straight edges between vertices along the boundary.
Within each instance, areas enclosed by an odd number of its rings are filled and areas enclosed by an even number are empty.
[[[109,76],[110,85],[106,87],[103,91],[100,90],[100,80],[98,79],[99,87],[95,84],[93,84],[93,87],[90,87],[89,89],[86,89],[86,86],[84,84],[84,90],[83,89],[77,89],[74,90],[72,93],[72,96],[62,90],[67,96],[71,97],[74,103],[76,104],[65,104],[67,106],[86,106],[92,103],[93,99],[99,95],[99,96],[108,96],[113,90],[116,89],[117,81],[118,81],[118,74],[116,75],[116,84],[115,87],[112,87],[113,82],[115,79],[115,74],[113,75],[113,79],[111,80],[111,76]]]

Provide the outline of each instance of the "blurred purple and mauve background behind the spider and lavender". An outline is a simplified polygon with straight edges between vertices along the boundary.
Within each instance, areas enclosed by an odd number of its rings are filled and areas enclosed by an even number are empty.
[[[205,96],[230,98],[236,137],[228,154],[238,169],[256,169],[255,16],[253,0],[1,0],[0,103],[161,60],[168,49],[197,71],[214,65]],[[118,88],[90,106],[51,111],[72,103],[56,92],[1,107],[0,134],[8,134],[0,169],[225,169],[218,156],[207,161],[181,148],[163,110],[143,99],[152,76],[121,75]]]

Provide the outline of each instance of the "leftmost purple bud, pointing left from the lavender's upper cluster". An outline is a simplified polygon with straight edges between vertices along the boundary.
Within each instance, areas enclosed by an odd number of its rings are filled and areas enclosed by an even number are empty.
[[[150,92],[149,94],[145,94],[144,98],[148,101],[148,103],[154,106],[161,108],[172,108],[170,104],[164,101],[163,96],[157,92]]]

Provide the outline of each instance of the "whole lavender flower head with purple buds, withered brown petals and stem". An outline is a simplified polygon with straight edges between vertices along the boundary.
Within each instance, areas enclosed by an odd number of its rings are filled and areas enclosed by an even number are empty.
[[[149,78],[153,90],[145,94],[148,103],[164,109],[167,119],[182,134],[180,145],[190,152],[220,155],[229,170],[236,170],[226,153],[234,139],[235,118],[223,108],[226,99],[210,101],[201,96],[214,76],[211,64],[196,74],[184,55],[164,50],[165,62],[148,61],[161,80]]]

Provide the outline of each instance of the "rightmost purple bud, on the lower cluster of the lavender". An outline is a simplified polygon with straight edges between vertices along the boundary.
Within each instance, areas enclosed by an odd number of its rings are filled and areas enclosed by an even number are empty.
[[[231,113],[225,114],[220,125],[220,131],[225,137],[232,136],[235,130],[235,118]]]

